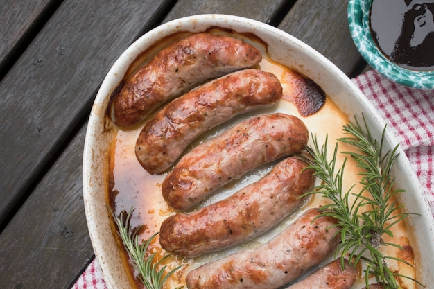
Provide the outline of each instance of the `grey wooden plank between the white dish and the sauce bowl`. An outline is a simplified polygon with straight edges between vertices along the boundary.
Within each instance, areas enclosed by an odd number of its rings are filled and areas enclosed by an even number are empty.
[[[312,46],[348,76],[360,70],[363,58],[349,33],[346,2],[298,0],[279,28]]]

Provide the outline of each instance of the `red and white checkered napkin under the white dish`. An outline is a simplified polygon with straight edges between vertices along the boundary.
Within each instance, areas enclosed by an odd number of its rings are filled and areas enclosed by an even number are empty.
[[[379,110],[397,137],[434,214],[434,90],[403,87],[374,70],[354,78],[353,82]],[[73,286],[73,289],[106,288],[95,259]]]

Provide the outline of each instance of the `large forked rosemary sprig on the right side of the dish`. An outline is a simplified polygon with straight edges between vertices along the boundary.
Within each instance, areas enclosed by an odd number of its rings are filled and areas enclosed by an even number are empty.
[[[315,175],[322,181],[321,184],[307,194],[319,193],[324,198],[331,200],[321,208],[321,216],[332,216],[338,220],[341,242],[336,249],[336,255],[340,254],[342,260],[346,254],[352,263],[356,264],[363,260],[366,265],[365,282],[369,286],[369,278],[374,275],[376,281],[383,283],[384,288],[397,289],[396,277],[411,279],[392,272],[387,265],[388,261],[394,260],[410,265],[406,261],[383,255],[379,248],[383,245],[398,247],[393,243],[386,243],[382,236],[388,234],[393,236],[390,227],[397,222],[407,218],[410,213],[399,213],[401,209],[394,201],[394,195],[402,193],[401,189],[394,189],[394,179],[390,171],[399,154],[396,146],[383,155],[383,144],[385,141],[385,128],[378,143],[372,138],[365,118],[363,117],[364,128],[356,118],[356,123],[348,123],[343,130],[347,137],[338,141],[356,147],[356,152],[342,152],[356,160],[357,166],[363,168],[361,185],[363,189],[359,193],[352,193],[354,186],[344,192],[342,180],[344,179],[345,157],[340,168],[336,168],[338,156],[338,143],[334,148],[333,157],[328,160],[327,141],[324,141],[322,148],[313,136],[313,147],[306,147],[311,159],[304,157],[309,168],[315,170]],[[350,203],[349,196],[355,197]],[[411,265],[410,265],[411,266]],[[420,283],[419,283],[420,284]],[[422,285],[422,284],[421,284]]]

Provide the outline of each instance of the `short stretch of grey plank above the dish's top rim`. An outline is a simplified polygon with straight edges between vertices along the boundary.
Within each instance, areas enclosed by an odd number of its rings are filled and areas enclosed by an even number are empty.
[[[197,14],[229,14],[248,17],[267,23],[285,0],[257,1],[257,0],[179,0],[164,22]]]

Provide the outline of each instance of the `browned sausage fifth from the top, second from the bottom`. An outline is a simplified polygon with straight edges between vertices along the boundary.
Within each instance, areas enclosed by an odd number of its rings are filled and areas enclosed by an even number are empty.
[[[320,263],[338,245],[336,219],[307,210],[281,234],[259,247],[246,249],[193,269],[189,289],[279,288]]]

